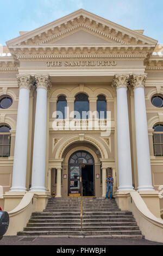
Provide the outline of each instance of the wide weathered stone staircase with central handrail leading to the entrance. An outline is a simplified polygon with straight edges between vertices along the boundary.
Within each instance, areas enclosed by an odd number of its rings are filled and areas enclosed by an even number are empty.
[[[142,239],[131,212],[121,211],[114,199],[83,198],[83,231],[80,222],[81,198],[51,198],[43,212],[34,212],[20,236],[106,237]]]

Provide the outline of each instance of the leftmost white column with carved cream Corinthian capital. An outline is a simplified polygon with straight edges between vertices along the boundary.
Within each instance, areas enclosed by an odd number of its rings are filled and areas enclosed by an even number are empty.
[[[17,81],[20,93],[17,110],[12,187],[10,191],[26,191],[29,92],[32,86],[32,77],[30,75],[17,75]]]

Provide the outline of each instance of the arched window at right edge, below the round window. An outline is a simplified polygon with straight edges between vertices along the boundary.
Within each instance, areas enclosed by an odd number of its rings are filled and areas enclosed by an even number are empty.
[[[153,127],[153,149],[155,156],[163,156],[163,125],[157,124]]]

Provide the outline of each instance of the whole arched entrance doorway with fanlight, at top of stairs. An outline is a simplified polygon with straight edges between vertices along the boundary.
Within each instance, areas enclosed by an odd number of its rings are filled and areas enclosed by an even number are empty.
[[[87,151],[73,153],[68,161],[68,196],[95,196],[95,162]]]

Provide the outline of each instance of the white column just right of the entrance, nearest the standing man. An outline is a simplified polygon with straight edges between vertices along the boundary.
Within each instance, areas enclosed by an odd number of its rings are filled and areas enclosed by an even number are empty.
[[[112,85],[117,90],[118,191],[133,190],[127,86],[129,75],[116,75]]]

